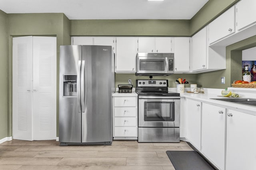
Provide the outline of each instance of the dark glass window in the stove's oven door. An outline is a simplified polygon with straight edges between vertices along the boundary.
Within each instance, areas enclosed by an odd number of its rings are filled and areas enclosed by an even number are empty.
[[[174,121],[174,102],[144,102],[144,121]]]

